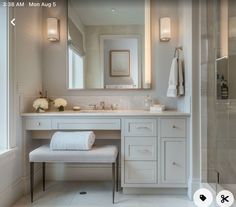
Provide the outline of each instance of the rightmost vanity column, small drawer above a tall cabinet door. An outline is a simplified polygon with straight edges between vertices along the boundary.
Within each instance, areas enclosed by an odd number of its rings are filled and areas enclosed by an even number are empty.
[[[160,119],[160,183],[186,187],[187,120]]]

